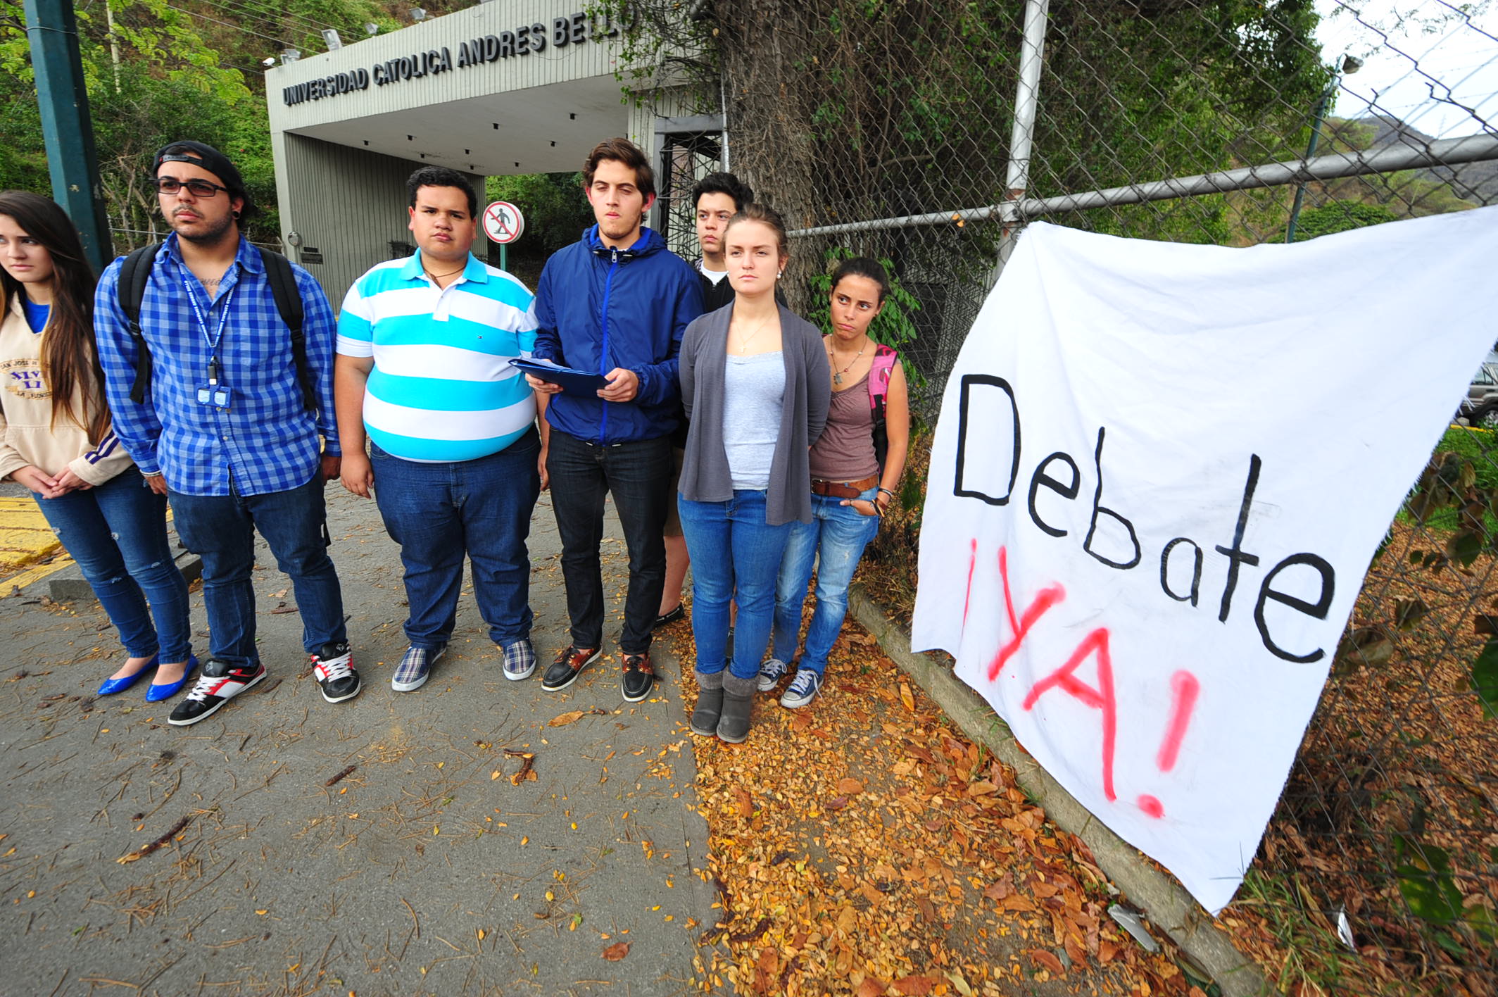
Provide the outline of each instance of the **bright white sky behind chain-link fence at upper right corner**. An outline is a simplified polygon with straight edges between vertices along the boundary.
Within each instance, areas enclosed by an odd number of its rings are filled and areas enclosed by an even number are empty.
[[[1498,132],[1498,3],[1468,6],[1471,24],[1440,0],[1317,0],[1326,58],[1348,52],[1365,63],[1342,79],[1332,112],[1392,114],[1437,138],[1485,130],[1468,111],[1432,99],[1435,85],[1437,97],[1473,108]]]

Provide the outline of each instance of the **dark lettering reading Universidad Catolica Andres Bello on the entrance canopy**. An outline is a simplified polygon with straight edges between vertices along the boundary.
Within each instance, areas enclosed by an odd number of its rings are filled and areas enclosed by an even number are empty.
[[[369,69],[351,69],[348,72],[319,76],[307,82],[298,82],[282,88],[282,100],[291,106],[306,100],[322,100],[355,90],[369,90],[370,82],[383,87],[391,82],[404,82],[452,69],[469,69],[485,63],[530,55],[551,48],[566,48],[584,42],[601,42],[617,37],[634,24],[634,13],[629,9],[614,13],[601,10],[589,13],[578,10],[566,16],[551,18],[551,24],[521,24],[512,31],[499,34],[484,34],[481,37],[458,42],[457,57],[446,45],[431,48],[424,52],[400,55],[382,63],[374,63]]]

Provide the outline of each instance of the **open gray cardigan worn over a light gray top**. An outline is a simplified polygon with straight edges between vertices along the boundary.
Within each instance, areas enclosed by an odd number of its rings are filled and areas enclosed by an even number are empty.
[[[682,463],[682,498],[727,502],[734,496],[724,450],[724,378],[728,366],[730,303],[692,321],[682,337],[682,402],[692,429]],[[822,435],[831,400],[831,373],[816,327],[780,306],[780,355],[785,396],[774,441],[764,519],[770,526],[812,522],[812,471],[807,450]]]

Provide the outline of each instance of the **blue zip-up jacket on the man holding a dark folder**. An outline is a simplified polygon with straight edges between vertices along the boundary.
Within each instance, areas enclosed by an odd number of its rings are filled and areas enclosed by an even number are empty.
[[[661,235],[641,228],[634,246],[616,250],[595,225],[547,261],[535,307],[536,357],[598,373],[625,367],[640,378],[632,402],[553,394],[553,429],[599,444],[655,439],[676,429],[676,357],[688,322],[703,313],[703,288]]]

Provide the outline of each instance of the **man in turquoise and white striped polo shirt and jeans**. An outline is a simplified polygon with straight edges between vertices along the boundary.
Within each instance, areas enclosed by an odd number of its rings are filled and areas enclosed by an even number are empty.
[[[505,678],[518,681],[536,667],[526,537],[545,450],[535,394],[509,361],[535,346],[532,294],[469,252],[478,198],[463,174],[422,166],[406,189],[416,253],[360,277],[339,316],[343,487],[373,487],[406,568],[410,648],[391,687],[421,688],[446,651],[464,553]]]

